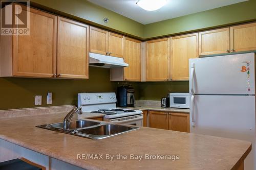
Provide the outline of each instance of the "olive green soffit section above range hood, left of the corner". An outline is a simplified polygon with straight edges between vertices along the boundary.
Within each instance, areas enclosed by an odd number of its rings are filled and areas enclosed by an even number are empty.
[[[143,37],[144,25],[86,0],[31,0],[31,6],[91,23],[105,29]],[[108,23],[103,18],[109,18]]]

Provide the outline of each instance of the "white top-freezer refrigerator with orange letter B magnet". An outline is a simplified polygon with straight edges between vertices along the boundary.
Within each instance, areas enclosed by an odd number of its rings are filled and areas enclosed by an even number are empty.
[[[255,54],[189,59],[190,132],[250,141],[256,170]]]

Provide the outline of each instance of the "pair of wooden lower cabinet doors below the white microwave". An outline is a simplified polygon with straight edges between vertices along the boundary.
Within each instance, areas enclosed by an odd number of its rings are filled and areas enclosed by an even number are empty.
[[[189,132],[188,113],[149,111],[150,127],[180,132]]]

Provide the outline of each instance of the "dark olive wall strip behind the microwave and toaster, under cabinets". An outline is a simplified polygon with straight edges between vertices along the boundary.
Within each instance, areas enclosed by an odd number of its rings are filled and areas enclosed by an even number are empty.
[[[188,81],[141,82],[139,94],[141,100],[161,100],[169,92],[188,92]]]

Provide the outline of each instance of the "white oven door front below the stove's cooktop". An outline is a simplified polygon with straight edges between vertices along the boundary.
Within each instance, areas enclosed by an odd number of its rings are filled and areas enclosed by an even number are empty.
[[[127,116],[127,117],[120,117],[120,118],[108,119],[106,121],[118,123],[118,124],[143,126],[143,115],[141,114],[141,115],[133,115],[133,116]]]

